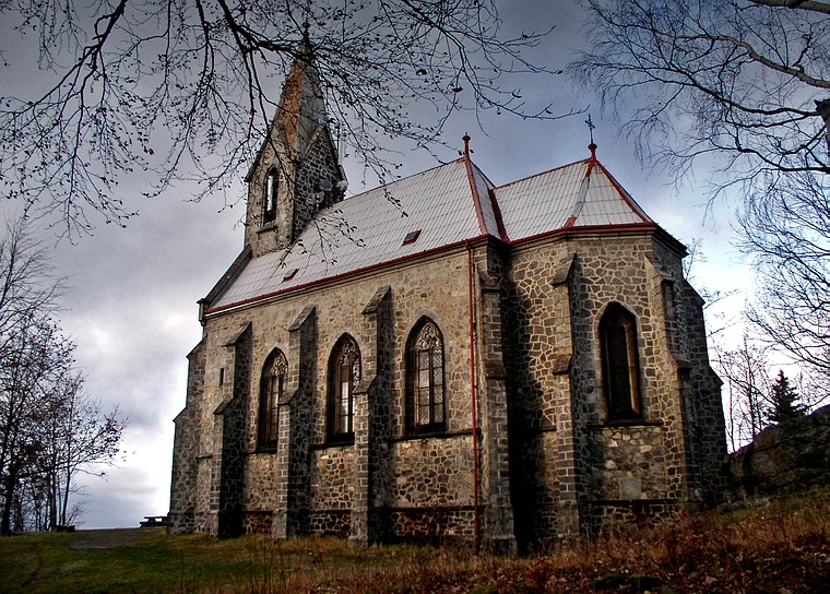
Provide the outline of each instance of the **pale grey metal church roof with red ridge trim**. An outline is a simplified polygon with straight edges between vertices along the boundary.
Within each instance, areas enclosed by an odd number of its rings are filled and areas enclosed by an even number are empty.
[[[321,211],[289,249],[248,261],[209,312],[485,235],[637,223],[652,221],[595,158],[495,188],[465,156]]]

